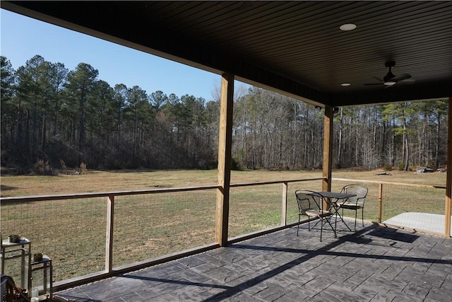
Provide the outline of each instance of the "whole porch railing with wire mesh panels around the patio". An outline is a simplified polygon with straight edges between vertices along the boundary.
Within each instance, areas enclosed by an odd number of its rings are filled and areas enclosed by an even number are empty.
[[[301,187],[321,190],[323,180],[230,185],[228,242],[295,226],[293,192]],[[369,187],[367,220],[381,223],[407,209],[444,214],[446,187],[333,178],[332,190],[348,183]],[[1,233],[28,237],[32,250],[54,257],[54,272],[59,274],[54,290],[58,291],[218,248],[214,233],[217,190],[220,187],[209,185],[2,197]],[[400,197],[410,196],[413,190],[417,190],[415,197]],[[397,206],[400,202],[403,206]]]

